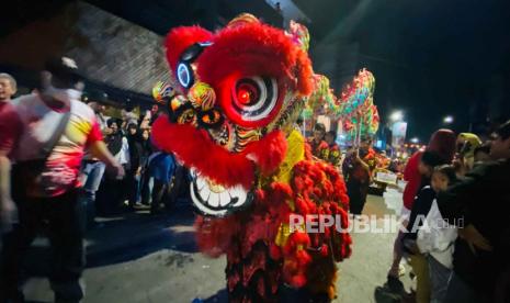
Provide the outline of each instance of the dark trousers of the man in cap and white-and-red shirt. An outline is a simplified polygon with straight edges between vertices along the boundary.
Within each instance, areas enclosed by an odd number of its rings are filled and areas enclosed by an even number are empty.
[[[16,197],[18,195],[18,197]],[[46,227],[52,245],[49,280],[56,302],[83,298],[79,283],[84,268],[83,210],[77,190],[54,198],[23,198],[14,194],[20,223],[5,235],[0,259],[0,302],[21,302],[21,266],[37,234]],[[20,300],[20,301],[18,301]]]

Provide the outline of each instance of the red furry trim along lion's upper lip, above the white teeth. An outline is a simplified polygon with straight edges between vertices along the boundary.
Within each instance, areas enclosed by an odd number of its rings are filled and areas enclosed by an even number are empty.
[[[206,131],[170,123],[166,115],[155,122],[152,138],[158,147],[175,154],[186,167],[197,169],[223,186],[241,184],[247,190],[253,184],[256,168],[263,175],[271,173],[283,161],[287,147],[285,135],[274,131],[241,153],[230,153],[215,144]]]

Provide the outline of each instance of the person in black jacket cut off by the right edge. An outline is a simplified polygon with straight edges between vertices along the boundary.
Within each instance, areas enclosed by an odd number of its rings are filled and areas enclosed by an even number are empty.
[[[510,121],[496,132],[490,157],[438,195],[442,216],[460,227],[445,302],[510,300]]]

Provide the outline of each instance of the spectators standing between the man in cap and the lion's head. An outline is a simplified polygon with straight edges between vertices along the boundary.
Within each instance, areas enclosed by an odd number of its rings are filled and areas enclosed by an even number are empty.
[[[87,153],[83,157],[80,183],[83,184],[89,223],[94,214],[111,215],[150,205],[150,213],[171,207],[177,194],[172,180],[179,167],[172,155],[158,150],[150,142],[150,128],[159,115],[158,105],[136,115],[123,110],[121,117],[105,115],[106,96],[100,91],[87,94],[87,104],[94,111],[107,149],[123,166],[124,178],[105,172],[105,165]]]

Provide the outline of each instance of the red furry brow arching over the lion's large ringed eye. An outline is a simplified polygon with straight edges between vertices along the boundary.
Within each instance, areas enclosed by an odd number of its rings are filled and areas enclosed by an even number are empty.
[[[199,57],[202,81],[218,87],[233,72],[242,77],[274,77],[303,96],[311,93],[308,55],[281,30],[262,23],[227,27]]]

